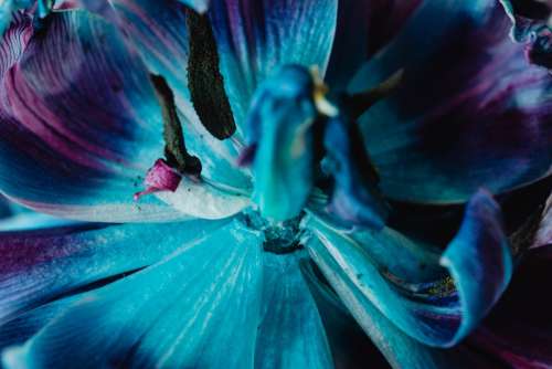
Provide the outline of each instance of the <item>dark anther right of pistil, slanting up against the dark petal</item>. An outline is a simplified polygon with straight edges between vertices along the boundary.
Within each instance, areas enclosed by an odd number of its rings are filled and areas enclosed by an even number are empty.
[[[391,77],[369,91],[346,96],[351,118],[357,119],[370,107],[393,92],[401,83],[404,70],[395,72]]]

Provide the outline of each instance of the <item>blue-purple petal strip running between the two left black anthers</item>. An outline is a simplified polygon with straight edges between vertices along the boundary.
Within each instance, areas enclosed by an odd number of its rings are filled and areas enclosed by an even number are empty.
[[[213,137],[191,103],[187,72],[190,38],[184,7],[172,0],[113,0],[110,3],[113,8],[99,7],[97,11],[107,19],[115,18],[114,22],[127,35],[148,70],[167,80],[176,96],[187,149],[200,158],[202,176],[227,187],[251,188],[247,171],[236,165],[242,147],[238,139]]]

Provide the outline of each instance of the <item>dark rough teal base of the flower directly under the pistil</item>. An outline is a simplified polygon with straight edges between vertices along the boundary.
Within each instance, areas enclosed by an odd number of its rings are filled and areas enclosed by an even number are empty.
[[[241,220],[247,228],[263,232],[265,236],[263,249],[274,254],[288,254],[301,249],[299,240],[302,232],[299,224],[304,215],[305,213],[301,212],[296,218],[276,222],[263,218],[255,210],[248,210],[240,214]]]

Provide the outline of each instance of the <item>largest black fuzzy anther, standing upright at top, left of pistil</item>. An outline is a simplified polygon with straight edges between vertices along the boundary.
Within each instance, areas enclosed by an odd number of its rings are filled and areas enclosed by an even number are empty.
[[[208,15],[187,9],[190,35],[188,84],[193,107],[206,130],[219,139],[236,130],[224,81],[219,68],[219,52]]]

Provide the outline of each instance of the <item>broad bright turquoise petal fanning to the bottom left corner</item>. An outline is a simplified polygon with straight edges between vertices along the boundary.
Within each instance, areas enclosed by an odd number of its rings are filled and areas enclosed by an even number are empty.
[[[261,238],[232,222],[163,262],[88,293],[7,368],[247,368],[259,314]]]

